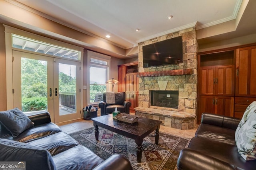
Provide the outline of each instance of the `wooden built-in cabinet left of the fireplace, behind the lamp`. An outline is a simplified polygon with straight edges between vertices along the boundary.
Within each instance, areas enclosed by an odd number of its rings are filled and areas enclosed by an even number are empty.
[[[126,100],[132,103],[130,112],[135,112],[134,108],[138,107],[139,97],[139,79],[138,79],[138,62],[122,64],[118,66],[118,92],[126,93]]]

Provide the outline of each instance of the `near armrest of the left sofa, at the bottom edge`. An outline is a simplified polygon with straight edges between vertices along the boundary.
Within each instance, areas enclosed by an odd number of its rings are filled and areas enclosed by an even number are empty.
[[[93,170],[132,170],[130,161],[121,154],[114,154]]]

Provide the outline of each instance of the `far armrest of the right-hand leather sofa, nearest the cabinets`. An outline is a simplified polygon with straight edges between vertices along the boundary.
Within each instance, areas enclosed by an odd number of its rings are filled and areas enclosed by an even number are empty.
[[[201,123],[215,125],[220,127],[226,127],[229,129],[236,130],[238,124],[240,123],[240,119],[236,117],[228,117],[224,115],[217,115],[213,113],[202,113]]]

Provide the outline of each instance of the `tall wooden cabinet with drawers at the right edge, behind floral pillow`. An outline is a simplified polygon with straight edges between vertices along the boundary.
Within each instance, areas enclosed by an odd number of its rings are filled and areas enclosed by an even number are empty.
[[[234,116],[242,118],[256,101],[256,46],[236,49],[236,96]]]

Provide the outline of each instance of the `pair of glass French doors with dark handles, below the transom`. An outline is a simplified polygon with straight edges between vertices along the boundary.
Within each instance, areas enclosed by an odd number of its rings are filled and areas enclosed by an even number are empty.
[[[14,107],[48,111],[52,122],[80,118],[80,62],[22,51],[13,53]]]

